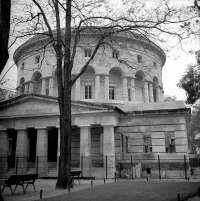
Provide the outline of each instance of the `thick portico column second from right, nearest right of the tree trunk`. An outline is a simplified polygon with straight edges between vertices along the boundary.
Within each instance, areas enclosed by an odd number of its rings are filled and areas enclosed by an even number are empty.
[[[81,125],[80,129],[80,155],[83,157],[83,176],[91,176],[91,128],[90,125]],[[82,160],[81,160],[82,161]]]

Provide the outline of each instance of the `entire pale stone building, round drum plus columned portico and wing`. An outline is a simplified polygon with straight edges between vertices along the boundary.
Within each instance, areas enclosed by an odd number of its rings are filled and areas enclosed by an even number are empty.
[[[81,37],[72,76],[88,60],[95,37]],[[159,158],[162,174],[183,171],[183,164],[188,170],[190,110],[182,102],[163,102],[164,52],[142,38],[127,41],[118,35],[115,40],[120,46],[114,52],[100,49],[72,88],[72,169],[81,169],[87,177],[113,178],[123,171],[140,177],[146,168],[158,171]],[[44,36],[33,37],[14,54],[18,96],[0,103],[3,176],[16,166],[18,173],[57,176],[56,60],[50,45],[37,51],[45,42]]]

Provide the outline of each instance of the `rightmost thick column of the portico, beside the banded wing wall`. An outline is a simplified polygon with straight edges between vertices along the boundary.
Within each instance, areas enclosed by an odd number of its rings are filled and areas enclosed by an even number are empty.
[[[104,126],[104,143],[103,143],[103,155],[104,155],[104,178],[114,178],[115,175],[115,138],[114,138],[114,125]],[[106,163],[107,158],[107,163]],[[107,164],[107,167],[106,167]],[[107,171],[106,171],[107,168]]]

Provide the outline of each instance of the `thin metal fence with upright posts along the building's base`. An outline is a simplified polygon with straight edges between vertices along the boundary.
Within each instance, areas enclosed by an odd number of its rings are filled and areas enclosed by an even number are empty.
[[[41,166],[47,166],[47,171],[49,169],[57,169],[59,166],[60,157],[0,157],[0,163],[5,171],[12,170],[12,173],[18,174],[21,168],[25,168],[28,172],[38,173]],[[104,171],[105,178],[108,178],[109,166],[114,161],[116,174],[121,177],[122,173],[132,172],[133,168],[138,164],[141,164],[141,170],[143,177],[146,177],[150,173],[156,172],[158,178],[162,178],[162,173],[166,171],[181,171],[184,174],[184,178],[187,179],[189,176],[189,161],[186,155],[177,157],[168,157],[161,155],[126,155],[126,156],[73,156],[71,159],[71,168],[79,169],[82,172],[86,165],[90,165],[91,169],[100,168]],[[25,164],[25,165],[22,165]],[[133,174],[131,174],[133,177]]]

